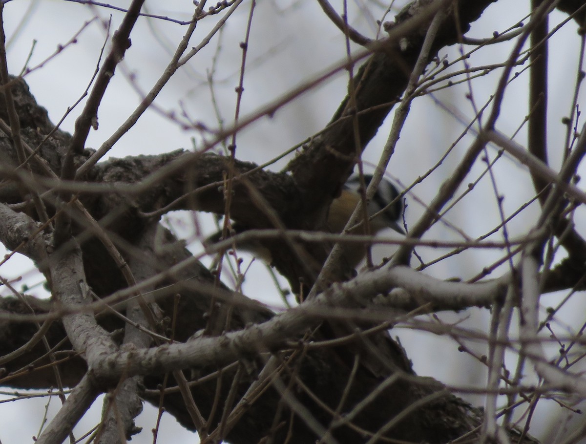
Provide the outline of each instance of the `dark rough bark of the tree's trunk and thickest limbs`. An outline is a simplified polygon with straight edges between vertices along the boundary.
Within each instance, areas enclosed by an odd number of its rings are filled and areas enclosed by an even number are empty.
[[[459,32],[465,32],[469,23],[477,19],[483,9],[493,1],[495,0],[457,2],[458,24],[454,23],[454,15],[448,16],[434,44],[430,60],[441,47],[458,42]],[[411,16],[417,16],[421,8],[432,3],[434,2],[431,0],[414,2],[410,9],[406,9],[397,17],[394,26],[406,22]],[[564,2],[570,3],[572,2]],[[287,228],[322,227],[329,203],[339,192],[341,184],[345,182],[355,164],[357,149],[361,151],[366,146],[397,97],[403,93],[410,69],[413,69],[420,52],[425,28],[426,26],[417,26],[413,32],[404,35],[403,37],[408,40],[406,46],[398,45],[397,40],[391,40],[376,47],[376,52],[357,73],[355,105],[350,107],[348,97],[342,102],[332,118],[328,131],[306,146],[304,153],[288,166],[287,170],[291,175],[264,170],[248,173],[255,165],[240,161],[230,163],[230,160],[210,153],[173,151],[159,156],[136,156],[98,163],[83,179],[88,183],[113,185],[113,190],[81,192],[81,203],[96,220],[104,221],[104,228],[115,239],[115,243],[126,258],[149,261],[149,266],[154,262],[159,272],[171,269],[173,265],[190,258],[191,255],[164,228],[152,230],[158,214],[149,213],[156,213],[161,209],[195,209],[222,214],[222,186],[228,169],[233,169],[235,177],[230,208],[234,220],[250,228],[271,228],[271,218],[263,211],[265,203],[268,203]],[[40,158],[45,160],[54,173],[60,175],[71,136],[53,128],[45,110],[35,103],[22,80],[13,80],[11,88],[16,98],[16,111],[21,120],[22,138],[31,148],[39,148]],[[358,147],[355,145],[353,134],[352,116],[355,114],[359,115]],[[0,106],[0,118],[5,121],[8,119],[4,101]],[[51,135],[46,138],[49,134]],[[16,165],[17,156],[13,150],[12,139],[4,133],[0,134],[0,152],[5,165]],[[75,165],[81,165],[91,153],[91,150],[86,149],[77,154],[74,159]],[[43,182],[47,175],[42,165],[35,158],[30,161],[30,165],[33,172],[39,176],[39,194],[45,192],[43,186],[49,190],[49,182]],[[161,174],[152,180],[151,185],[144,188],[136,185],[147,177],[151,180],[153,171],[159,171]],[[18,184],[25,179],[9,172],[7,168],[3,169],[2,173],[12,180],[7,180],[0,186],[0,200],[6,204],[20,203],[23,200],[22,188]],[[263,204],[250,193],[250,186],[258,190],[263,197]],[[44,198],[49,216],[52,216],[56,208],[56,196],[49,190]],[[32,206],[22,207],[21,210],[35,217]],[[71,217],[78,221],[74,233],[81,244],[88,285],[100,298],[124,289],[127,282],[107,249],[96,237],[86,233],[86,226],[79,214],[73,212]],[[161,242],[157,236],[164,240],[165,248],[162,250],[155,248],[155,245]],[[139,255],[135,248],[137,245],[141,245]],[[271,241],[267,246],[274,253],[275,266],[289,279],[293,288],[298,289],[299,279],[311,285],[315,279],[312,270],[303,267],[302,261],[291,260],[292,255],[287,244],[282,241]],[[308,245],[305,247],[318,264],[325,258],[325,251],[316,250]],[[575,278],[577,280],[583,272],[583,267],[576,268],[580,269]],[[219,325],[228,322],[229,330],[239,330],[248,323],[261,323],[273,316],[267,309],[254,303],[230,304],[226,300],[215,302],[213,292],[209,291],[214,285],[214,275],[196,262],[180,272],[166,275],[156,286],[162,288],[182,281],[189,281],[192,285],[156,301],[168,318],[163,323],[163,330],[176,341],[186,341],[197,332],[206,329],[209,322],[206,313],[209,315],[210,307],[216,303],[222,308],[216,310],[216,316],[219,316],[216,320]],[[570,284],[563,283],[564,286]],[[47,306],[40,303],[32,307],[34,313],[47,313],[48,310]],[[31,307],[23,300],[2,299],[1,313],[30,312]],[[100,325],[108,332],[115,332],[124,327],[124,322],[108,311],[97,313],[96,316]],[[173,331],[170,330],[172,323],[175,326]],[[315,327],[319,325],[319,320],[316,320]],[[332,339],[338,336],[337,326],[336,323],[324,324],[321,329],[312,332],[312,337]],[[36,329],[35,324],[30,321],[2,320],[0,354],[8,354],[26,344]],[[49,347],[54,347],[54,354],[49,356],[46,353],[46,344],[39,342],[32,345],[21,356],[3,364],[0,380],[3,385],[24,388],[52,386],[55,384],[53,368],[45,366],[54,358],[60,360],[62,357],[66,359],[57,364],[57,368],[62,375],[63,384],[73,386],[81,381],[87,371],[86,363],[83,358],[71,351],[71,344],[59,319],[55,319],[50,325],[45,337]],[[301,338],[291,338],[292,341],[298,339]],[[372,359],[373,349],[380,354],[380,373],[363,364],[364,361]],[[333,418],[339,419],[332,411],[338,408],[340,395],[351,374],[354,380],[343,410],[350,410],[351,406],[356,405],[367,394],[380,388],[383,382],[388,382],[393,375],[396,377],[392,384],[381,390],[379,395],[353,419],[353,424],[363,431],[380,430],[410,406],[417,408],[413,408],[386,432],[387,438],[444,443],[473,431],[482,421],[478,409],[444,391],[439,382],[417,377],[404,350],[386,333],[376,333],[369,337],[358,336],[357,339],[336,347],[311,350],[299,347],[299,350],[294,352],[272,350],[272,354],[284,364],[281,380],[285,385],[290,384],[295,398],[322,424],[331,423]],[[226,399],[233,381],[236,381],[234,384],[237,395],[244,394],[258,377],[258,371],[263,367],[267,357],[268,354],[251,356],[250,360],[240,363],[241,367],[228,367],[221,371],[219,378],[195,385],[192,394],[202,414],[206,418],[210,416],[214,399],[218,394],[220,399]],[[353,373],[355,360],[359,361],[359,366]],[[214,367],[203,367],[193,369],[190,374],[186,371],[186,374],[203,378],[206,374],[218,370]],[[163,375],[147,375],[144,379],[144,398],[159,405],[158,389],[162,382]],[[169,380],[167,385],[174,383]],[[314,397],[331,411],[316,403]],[[246,413],[231,429],[227,439],[233,443],[245,444],[259,442],[270,436],[274,442],[284,442],[287,434],[291,433],[291,442],[316,440],[315,432],[299,416],[293,415],[293,424],[289,428],[291,411],[283,403],[282,398],[278,390],[266,390],[253,404],[247,406]],[[165,394],[162,405],[180,423],[193,428],[192,419],[179,394]],[[281,414],[276,421],[275,411]],[[220,421],[221,412],[222,408],[216,410],[209,428]],[[340,443],[356,443],[364,440],[363,431],[341,425],[332,430],[332,435]],[[524,442],[533,441],[526,437]]]

